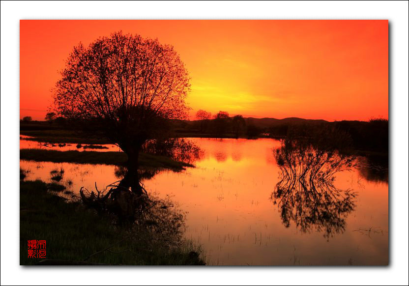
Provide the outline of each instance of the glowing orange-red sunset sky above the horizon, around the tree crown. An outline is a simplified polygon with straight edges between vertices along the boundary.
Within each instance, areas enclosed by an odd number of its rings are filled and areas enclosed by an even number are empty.
[[[191,114],[388,118],[387,20],[22,20],[20,118],[44,119],[74,45],[119,30],[175,46]]]

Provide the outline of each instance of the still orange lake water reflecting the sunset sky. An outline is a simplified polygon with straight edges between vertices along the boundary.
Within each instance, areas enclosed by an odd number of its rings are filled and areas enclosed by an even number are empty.
[[[272,195],[282,180],[273,152],[279,141],[191,140],[203,150],[196,168],[162,171],[144,184],[149,193],[171,196],[187,211],[185,237],[202,246],[208,264],[388,264],[388,177],[376,162],[358,158],[358,167],[334,174],[334,188],[355,196],[347,203],[337,194],[324,196],[328,205],[321,203],[317,219],[310,209],[317,203],[304,198],[297,204],[300,196],[274,204]],[[21,140],[21,148],[36,145]],[[110,165],[21,160],[20,166],[29,170],[28,179],[47,182],[52,170],[63,168],[62,183],[72,182],[74,194],[82,186],[93,190],[96,182],[101,189],[118,180],[118,168]],[[286,215],[289,208],[294,212]]]

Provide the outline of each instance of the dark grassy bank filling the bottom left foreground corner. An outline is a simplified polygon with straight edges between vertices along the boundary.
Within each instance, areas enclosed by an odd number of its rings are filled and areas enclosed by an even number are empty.
[[[46,240],[47,259],[113,265],[203,265],[191,241],[169,245],[149,228],[113,225],[112,218],[97,215],[80,202],[66,202],[39,180],[20,182],[21,265],[43,259],[28,258],[27,241],[31,239]]]

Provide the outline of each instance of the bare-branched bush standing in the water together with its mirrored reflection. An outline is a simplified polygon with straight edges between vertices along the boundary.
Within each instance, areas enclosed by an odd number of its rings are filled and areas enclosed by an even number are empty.
[[[295,223],[302,232],[343,233],[355,207],[356,194],[334,186],[337,172],[350,170],[355,158],[313,144],[286,140],[274,150],[280,181],[271,195],[286,227]]]

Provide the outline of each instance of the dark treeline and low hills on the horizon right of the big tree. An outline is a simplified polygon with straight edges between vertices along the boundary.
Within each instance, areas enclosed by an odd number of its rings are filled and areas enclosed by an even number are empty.
[[[329,122],[322,119],[303,119],[289,117],[252,118],[242,115],[229,116],[220,111],[211,116],[203,110],[196,114],[198,120],[176,123],[178,133],[196,132],[215,138],[247,138],[260,137],[285,139],[314,137],[327,134],[328,143],[339,140],[342,135],[343,146],[355,151],[373,151],[387,153],[389,147],[389,121],[385,118],[371,118],[368,121],[342,120]],[[322,131],[327,131],[322,133]],[[336,136],[332,136],[337,134]],[[335,138],[337,137],[337,138]]]

